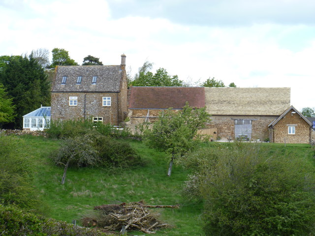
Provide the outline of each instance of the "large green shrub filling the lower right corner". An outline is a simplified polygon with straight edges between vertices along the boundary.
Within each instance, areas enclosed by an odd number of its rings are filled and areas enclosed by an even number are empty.
[[[193,159],[198,159],[193,164]],[[201,165],[202,164],[202,165]],[[315,232],[314,166],[236,143],[190,161],[204,200],[204,230],[216,236],[307,236]]]

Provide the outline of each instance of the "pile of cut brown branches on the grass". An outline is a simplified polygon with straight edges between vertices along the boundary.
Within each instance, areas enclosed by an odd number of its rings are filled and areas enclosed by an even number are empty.
[[[125,233],[128,230],[142,231],[146,234],[155,234],[156,230],[169,227],[168,224],[158,220],[158,212],[148,208],[179,208],[175,206],[152,206],[143,202],[122,203],[120,205],[102,205],[94,207],[100,215],[97,220],[84,218],[85,226],[96,226],[104,231],[120,231]]]

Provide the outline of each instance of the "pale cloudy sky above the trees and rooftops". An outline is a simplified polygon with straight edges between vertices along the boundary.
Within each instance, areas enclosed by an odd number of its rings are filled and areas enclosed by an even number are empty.
[[[0,56],[62,48],[136,73],[152,69],[194,86],[290,87],[315,107],[313,0],[0,0]]]

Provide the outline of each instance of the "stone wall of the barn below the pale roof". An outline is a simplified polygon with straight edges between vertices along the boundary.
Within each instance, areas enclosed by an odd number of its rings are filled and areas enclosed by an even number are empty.
[[[233,140],[235,119],[251,119],[252,120],[252,140],[266,140],[269,138],[268,125],[274,121],[277,116],[212,116],[209,128],[217,128],[218,136],[222,140]]]

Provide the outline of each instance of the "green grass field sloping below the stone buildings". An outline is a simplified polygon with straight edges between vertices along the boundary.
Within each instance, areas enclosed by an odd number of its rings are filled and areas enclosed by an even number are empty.
[[[69,168],[64,185],[61,185],[63,168],[55,166],[49,156],[59,148],[60,140],[43,137],[22,136],[36,163],[34,185],[42,197],[45,214],[57,220],[71,222],[93,212],[93,207],[103,204],[120,204],[144,200],[151,205],[176,205],[180,209],[160,210],[161,219],[173,225],[172,229],[156,235],[204,235],[202,232],[202,203],[189,202],[181,195],[189,172],[179,166],[173,167],[171,177],[166,177],[168,163],[164,153],[145,147],[141,142],[131,141],[145,165],[132,170],[116,172],[99,168]],[[225,145],[209,143],[206,145]],[[262,144],[268,155],[277,153],[287,158],[301,158],[314,165],[314,151],[310,145]],[[129,232],[130,233],[130,232]],[[135,235],[143,233],[131,232]]]

